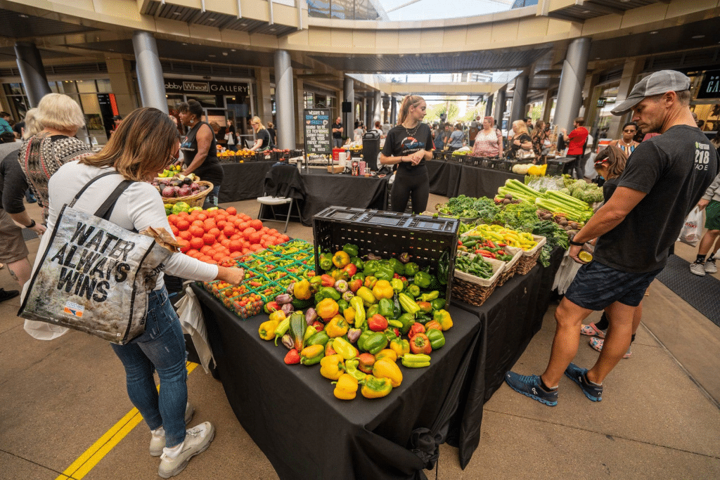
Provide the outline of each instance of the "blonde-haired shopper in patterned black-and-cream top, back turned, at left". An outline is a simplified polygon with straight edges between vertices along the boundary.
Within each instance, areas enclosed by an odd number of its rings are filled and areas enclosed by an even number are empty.
[[[80,105],[63,94],[47,94],[37,104],[37,124],[42,131],[22,142],[19,161],[27,183],[42,207],[42,222],[48,219],[48,179],[64,163],[93,151],[75,135],[85,125]]]

